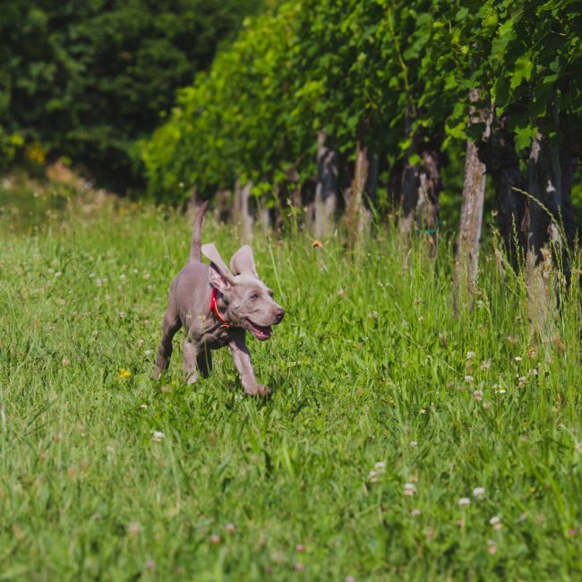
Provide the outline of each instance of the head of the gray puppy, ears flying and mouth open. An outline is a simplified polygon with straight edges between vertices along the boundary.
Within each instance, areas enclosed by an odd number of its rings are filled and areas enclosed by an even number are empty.
[[[269,339],[271,326],[280,323],[285,312],[257,275],[252,248],[248,244],[241,246],[230,260],[230,270],[214,244],[203,244],[201,250],[210,259],[210,283],[224,297],[226,321],[250,331],[261,341]]]

